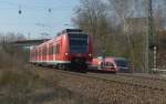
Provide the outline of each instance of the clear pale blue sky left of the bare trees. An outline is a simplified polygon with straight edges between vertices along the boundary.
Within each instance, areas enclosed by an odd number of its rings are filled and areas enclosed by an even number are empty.
[[[79,0],[0,0],[0,33],[19,32],[30,39],[49,33],[52,38],[73,28],[71,19],[77,4]]]

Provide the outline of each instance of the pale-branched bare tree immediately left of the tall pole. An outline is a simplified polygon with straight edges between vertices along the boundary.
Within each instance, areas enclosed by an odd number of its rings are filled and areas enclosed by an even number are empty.
[[[123,34],[126,35],[126,50],[128,51],[128,58],[132,62],[132,67],[144,69],[145,60],[145,34],[147,29],[144,6],[146,0],[108,0],[110,6],[113,7],[115,13],[121,19],[123,25]],[[144,1],[144,6],[143,6]],[[145,4],[146,3],[146,4]],[[142,23],[142,24],[141,24]],[[142,33],[139,32],[142,31]],[[121,41],[118,41],[121,42]],[[126,52],[127,52],[126,51]]]

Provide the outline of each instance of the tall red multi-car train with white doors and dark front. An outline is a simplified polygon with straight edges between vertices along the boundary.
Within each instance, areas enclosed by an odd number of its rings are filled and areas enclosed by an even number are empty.
[[[30,62],[58,69],[86,71],[92,61],[92,38],[80,29],[65,29],[30,52]]]

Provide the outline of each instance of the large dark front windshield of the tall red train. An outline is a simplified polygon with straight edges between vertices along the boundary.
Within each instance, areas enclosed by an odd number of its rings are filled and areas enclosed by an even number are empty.
[[[87,53],[89,37],[87,34],[69,34],[71,53]]]

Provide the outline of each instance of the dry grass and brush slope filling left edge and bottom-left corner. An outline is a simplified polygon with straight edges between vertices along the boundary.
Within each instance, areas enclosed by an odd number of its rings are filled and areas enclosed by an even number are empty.
[[[0,104],[96,104],[61,87],[54,75],[55,79],[41,77],[27,65],[24,52],[19,48],[10,44],[0,48]]]

